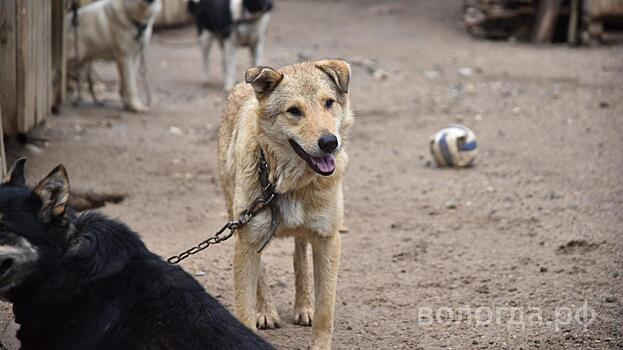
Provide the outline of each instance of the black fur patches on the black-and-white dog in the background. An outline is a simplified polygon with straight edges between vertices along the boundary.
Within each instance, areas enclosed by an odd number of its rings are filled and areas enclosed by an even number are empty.
[[[250,13],[271,11],[272,0],[243,0],[244,8]],[[188,1],[188,12],[194,17],[197,31],[208,30],[222,38],[231,34],[234,18],[230,10],[230,0]]]

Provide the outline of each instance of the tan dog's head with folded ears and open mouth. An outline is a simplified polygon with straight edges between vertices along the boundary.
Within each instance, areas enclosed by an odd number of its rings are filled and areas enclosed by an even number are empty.
[[[333,174],[353,122],[350,74],[339,60],[247,69],[245,81],[255,90],[259,125],[271,146],[296,153],[320,175]]]

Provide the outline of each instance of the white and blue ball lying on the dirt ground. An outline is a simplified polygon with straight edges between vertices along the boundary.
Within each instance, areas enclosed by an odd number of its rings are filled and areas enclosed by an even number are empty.
[[[473,165],[478,151],[476,146],[474,132],[459,124],[443,128],[430,138],[430,151],[441,167]]]

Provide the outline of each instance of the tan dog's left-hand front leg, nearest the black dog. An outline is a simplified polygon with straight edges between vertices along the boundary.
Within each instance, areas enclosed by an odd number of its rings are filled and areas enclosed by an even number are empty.
[[[242,229],[236,236],[234,247],[234,312],[238,320],[256,330],[255,305],[260,274],[260,254]]]

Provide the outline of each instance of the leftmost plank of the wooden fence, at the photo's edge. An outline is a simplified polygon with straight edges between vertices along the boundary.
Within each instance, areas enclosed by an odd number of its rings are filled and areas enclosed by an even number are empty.
[[[0,1],[0,108],[6,134],[17,132],[16,0]]]

